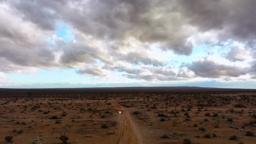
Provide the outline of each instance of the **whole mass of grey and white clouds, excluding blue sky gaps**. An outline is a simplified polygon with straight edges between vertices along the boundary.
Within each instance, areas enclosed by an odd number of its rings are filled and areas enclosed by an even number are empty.
[[[188,79],[191,76],[187,73],[166,71],[166,62],[142,51],[150,49],[150,44],[158,44],[160,50],[188,56],[195,46],[191,38],[207,32],[214,33],[219,42],[241,41],[247,50],[255,51],[254,5],[254,0],[0,1],[0,64],[8,63],[0,71],[16,73],[26,68],[61,67],[80,68],[78,74],[104,76],[106,68],[126,71],[126,77],[138,80]],[[61,43],[53,38],[58,22],[72,27],[75,43]],[[90,45],[88,37],[105,46]],[[49,38],[56,44],[51,44]],[[129,38],[144,47],[131,46],[133,51],[124,53],[122,47]],[[234,62],[246,59],[237,57],[237,53],[241,51],[234,48],[226,58]],[[107,66],[99,68],[98,60]],[[152,74],[138,75],[143,68],[117,67],[116,62],[157,68],[145,69]],[[254,66],[251,65],[251,71]],[[252,73],[208,61],[191,62],[187,68],[201,77],[238,77]]]

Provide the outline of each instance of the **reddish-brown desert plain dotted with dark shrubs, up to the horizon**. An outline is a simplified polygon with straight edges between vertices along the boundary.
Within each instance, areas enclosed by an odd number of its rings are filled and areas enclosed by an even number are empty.
[[[0,143],[255,144],[256,91],[1,89],[0,129]]]

